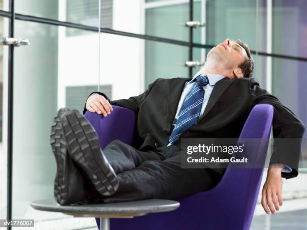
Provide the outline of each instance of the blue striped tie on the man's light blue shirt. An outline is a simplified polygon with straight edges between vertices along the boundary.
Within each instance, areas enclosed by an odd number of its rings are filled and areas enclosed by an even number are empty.
[[[172,145],[177,144],[183,131],[192,125],[197,124],[205,94],[203,87],[208,83],[209,80],[206,75],[199,75],[196,78],[196,83],[185,98],[180,109],[178,120],[170,136],[169,142]]]

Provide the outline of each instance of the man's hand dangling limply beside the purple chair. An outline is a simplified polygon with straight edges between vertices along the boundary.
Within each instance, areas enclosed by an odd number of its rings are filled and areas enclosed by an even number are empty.
[[[270,211],[272,214],[275,214],[275,209],[278,211],[279,205],[282,205],[282,169],[283,164],[272,164],[267,171],[267,177],[262,188],[261,200],[262,207],[267,214]]]

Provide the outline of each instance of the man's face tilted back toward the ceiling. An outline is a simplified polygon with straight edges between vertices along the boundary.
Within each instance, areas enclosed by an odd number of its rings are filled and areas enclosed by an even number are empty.
[[[212,48],[207,55],[207,61],[213,59],[223,65],[223,68],[230,72],[241,70],[239,64],[245,61],[247,53],[239,44],[226,39],[223,43]],[[238,76],[234,76],[237,78]]]

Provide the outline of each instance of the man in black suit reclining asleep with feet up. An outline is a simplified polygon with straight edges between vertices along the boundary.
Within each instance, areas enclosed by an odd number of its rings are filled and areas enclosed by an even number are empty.
[[[135,145],[119,140],[103,151],[88,121],[76,110],[61,109],[55,117],[51,145],[58,173],[55,196],[59,203],[119,202],[146,198],[177,199],[211,189],[225,168],[182,168],[182,138],[238,138],[256,104],[274,107],[274,138],[295,138],[291,154],[270,161],[262,190],[269,213],[282,204],[282,177],[298,174],[302,122],[252,77],[253,59],[240,40],[226,39],[207,55],[204,67],[189,78],[157,79],[135,97],[110,101],[92,93],[88,110],[104,117],[112,105],[137,113]],[[278,160],[277,160],[278,159]]]

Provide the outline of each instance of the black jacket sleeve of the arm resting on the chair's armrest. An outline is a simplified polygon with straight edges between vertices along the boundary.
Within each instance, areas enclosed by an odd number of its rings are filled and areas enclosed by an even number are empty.
[[[117,105],[117,106],[121,106],[124,108],[128,108],[131,109],[135,112],[138,112],[140,104],[142,103],[142,101],[147,97],[147,95],[150,93],[151,89],[155,86],[155,84],[159,81],[160,79],[155,80],[154,82],[152,82],[151,84],[149,84],[147,90],[145,92],[143,92],[142,94],[138,95],[138,96],[134,96],[134,97],[129,97],[128,99],[120,99],[120,100],[114,100],[111,101],[104,93],[101,92],[93,92],[91,93],[88,98],[96,93],[99,94],[101,96],[103,96],[105,99],[107,99],[111,105]],[[87,98],[87,99],[88,99]],[[86,99],[86,101],[87,101]],[[86,101],[85,101],[85,105],[84,105],[84,109],[83,109],[83,114],[85,114],[85,112],[87,111],[87,109],[85,108],[86,106]]]

